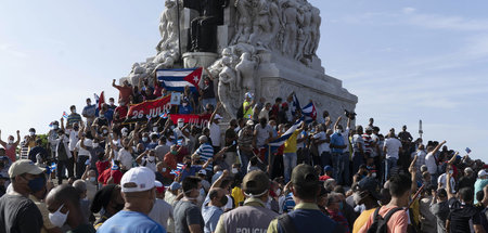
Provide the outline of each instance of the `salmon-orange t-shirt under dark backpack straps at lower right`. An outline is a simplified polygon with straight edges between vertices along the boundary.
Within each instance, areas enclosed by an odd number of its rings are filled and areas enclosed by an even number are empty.
[[[383,206],[383,207],[381,207],[378,215],[384,217],[389,210],[391,210],[394,208],[397,208],[397,206]],[[374,222],[373,218],[374,218],[374,215],[370,215],[370,218],[368,219],[367,223],[359,230],[358,233],[368,232],[368,229]],[[391,216],[388,223],[386,223],[386,224],[388,226],[388,230],[387,230],[388,233],[407,232],[407,226],[409,225],[409,216],[407,215],[407,211],[398,210]]]

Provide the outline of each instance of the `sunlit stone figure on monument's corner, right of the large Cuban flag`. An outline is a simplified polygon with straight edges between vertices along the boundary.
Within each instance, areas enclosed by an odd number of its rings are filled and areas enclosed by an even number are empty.
[[[223,105],[223,108],[231,115],[232,118],[235,118],[235,113],[237,108],[234,106],[239,101],[235,96],[241,96],[239,90],[235,90],[235,72],[232,69],[231,60],[228,56],[222,57],[221,61],[223,68],[219,74],[219,83],[217,88],[217,92],[219,94],[220,102]]]

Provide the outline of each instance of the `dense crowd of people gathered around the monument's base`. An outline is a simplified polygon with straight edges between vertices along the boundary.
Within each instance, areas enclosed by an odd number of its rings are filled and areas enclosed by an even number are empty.
[[[0,135],[0,232],[488,231],[486,166],[446,141],[373,118],[352,128],[349,112],[303,120],[293,93],[246,93],[223,128],[211,78],[170,111],[209,115],[206,127],[126,124],[129,104],[170,94],[150,82],[114,80],[118,106],[70,106],[47,143],[34,128]]]

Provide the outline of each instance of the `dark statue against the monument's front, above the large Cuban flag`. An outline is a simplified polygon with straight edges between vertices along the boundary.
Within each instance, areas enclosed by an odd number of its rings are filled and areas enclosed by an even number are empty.
[[[191,22],[191,48],[193,52],[217,50],[217,25],[223,24],[223,9],[229,0],[183,0],[183,7],[200,13]]]

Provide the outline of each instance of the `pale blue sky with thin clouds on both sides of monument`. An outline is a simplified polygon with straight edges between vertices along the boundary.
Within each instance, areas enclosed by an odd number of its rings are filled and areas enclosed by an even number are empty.
[[[402,125],[488,160],[488,2],[310,1],[321,10],[325,73],[359,96],[358,124]],[[163,0],[2,1],[2,139],[49,130],[69,105],[155,54]]]

